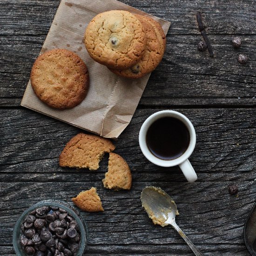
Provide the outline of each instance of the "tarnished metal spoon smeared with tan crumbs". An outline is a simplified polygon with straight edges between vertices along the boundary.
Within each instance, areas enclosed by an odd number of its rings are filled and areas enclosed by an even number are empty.
[[[148,213],[149,218],[151,218],[155,224],[159,224],[162,227],[168,224],[172,225],[189,245],[195,255],[202,256],[202,253],[196,249],[195,245],[191,243],[189,238],[176,224],[175,215],[178,215],[177,207],[168,194],[160,188],[146,187],[141,192],[141,203]]]

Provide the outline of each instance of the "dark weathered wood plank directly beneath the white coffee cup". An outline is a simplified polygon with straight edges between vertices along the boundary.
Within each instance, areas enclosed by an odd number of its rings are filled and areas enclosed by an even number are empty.
[[[176,109],[195,126],[197,143],[190,157],[198,181],[253,181],[256,176],[256,109]],[[142,122],[161,109],[137,109],[128,128],[115,141],[135,180],[185,181],[178,167],[161,168],[142,155],[138,135]],[[31,110],[0,109],[1,178],[3,181],[95,181],[107,169],[107,156],[95,176],[88,170],[60,168],[58,157],[79,130]],[[152,171],[154,170],[154,171]],[[55,175],[53,176],[53,174]],[[82,175],[81,175],[82,174]]]

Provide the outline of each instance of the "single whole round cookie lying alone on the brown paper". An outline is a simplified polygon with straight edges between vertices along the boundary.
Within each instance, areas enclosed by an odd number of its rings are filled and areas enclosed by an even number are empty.
[[[74,108],[85,98],[89,74],[81,58],[66,49],[41,54],[34,62],[30,80],[38,98],[52,108]]]

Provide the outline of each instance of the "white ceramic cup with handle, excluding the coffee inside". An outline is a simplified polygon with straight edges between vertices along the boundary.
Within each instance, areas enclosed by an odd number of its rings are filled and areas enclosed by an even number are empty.
[[[151,126],[152,123],[154,123],[156,120],[162,117],[174,117],[182,121],[183,124],[186,125],[189,131],[189,137],[190,137],[189,147],[181,156],[172,160],[163,160],[156,157],[150,152],[146,143],[146,135],[148,132],[148,128]],[[188,182],[195,182],[197,180],[197,175],[195,173],[195,170],[188,160],[189,156],[192,154],[195,148],[195,141],[196,141],[195,128],[192,125],[192,123],[189,121],[189,119],[185,115],[182,115],[181,113],[173,110],[163,110],[163,111],[156,112],[153,115],[150,115],[146,119],[146,121],[144,121],[144,123],[142,124],[140,134],[139,134],[139,143],[140,143],[141,151],[143,155],[145,155],[150,162],[155,163],[156,165],[162,166],[162,167],[171,167],[171,166],[179,165]]]

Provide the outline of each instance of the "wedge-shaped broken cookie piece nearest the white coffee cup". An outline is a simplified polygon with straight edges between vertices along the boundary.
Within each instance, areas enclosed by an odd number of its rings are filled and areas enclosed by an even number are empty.
[[[106,189],[130,189],[132,186],[132,174],[127,162],[115,153],[109,153],[108,172],[102,180]]]

